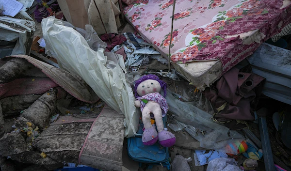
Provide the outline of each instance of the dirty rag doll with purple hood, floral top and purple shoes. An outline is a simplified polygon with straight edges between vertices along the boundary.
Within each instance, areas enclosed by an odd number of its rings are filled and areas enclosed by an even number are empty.
[[[142,120],[144,123],[144,133],[142,141],[144,145],[153,145],[159,140],[164,147],[171,147],[176,142],[176,137],[164,128],[162,117],[167,114],[168,104],[166,99],[167,85],[158,76],[146,75],[135,82],[134,91],[137,100],[134,102],[135,107],[141,108]],[[160,94],[163,89],[164,97]],[[153,115],[155,125],[151,124],[151,114]]]

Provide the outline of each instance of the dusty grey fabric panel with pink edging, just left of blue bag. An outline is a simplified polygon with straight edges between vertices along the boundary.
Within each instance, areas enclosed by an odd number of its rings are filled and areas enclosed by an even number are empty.
[[[92,124],[79,155],[79,163],[106,171],[121,171],[124,115],[104,107]]]

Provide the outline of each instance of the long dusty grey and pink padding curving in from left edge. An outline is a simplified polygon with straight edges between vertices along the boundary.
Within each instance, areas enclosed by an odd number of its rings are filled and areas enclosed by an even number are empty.
[[[23,87],[22,83],[26,86]],[[42,94],[54,87],[62,87],[78,100],[87,103],[95,103],[99,99],[80,78],[27,55],[14,55],[0,60],[0,84],[5,86],[5,89],[0,90],[0,99],[12,95]]]

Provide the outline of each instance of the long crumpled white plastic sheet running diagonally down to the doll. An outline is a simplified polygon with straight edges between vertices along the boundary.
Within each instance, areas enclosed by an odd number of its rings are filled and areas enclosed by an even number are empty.
[[[104,55],[101,47],[92,50],[78,31],[64,26],[64,22],[54,16],[42,20],[42,31],[46,48],[57,58],[60,67],[79,75],[106,104],[124,114],[126,137],[134,136],[140,115],[134,107],[132,89],[126,82],[122,56],[112,52]]]

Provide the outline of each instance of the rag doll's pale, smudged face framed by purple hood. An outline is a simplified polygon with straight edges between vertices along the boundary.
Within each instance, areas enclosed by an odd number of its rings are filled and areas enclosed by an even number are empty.
[[[161,85],[157,80],[154,79],[147,79],[141,82],[136,89],[138,95],[143,96],[148,93],[160,93],[161,92]]]

